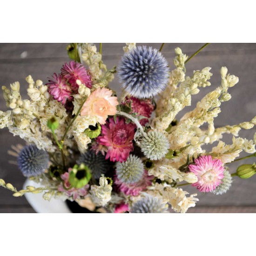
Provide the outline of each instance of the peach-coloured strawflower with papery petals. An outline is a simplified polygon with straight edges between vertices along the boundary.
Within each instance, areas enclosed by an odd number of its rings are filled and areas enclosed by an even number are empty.
[[[108,115],[116,114],[117,97],[107,88],[97,88],[85,101],[81,115],[97,116],[100,124],[105,124]]]

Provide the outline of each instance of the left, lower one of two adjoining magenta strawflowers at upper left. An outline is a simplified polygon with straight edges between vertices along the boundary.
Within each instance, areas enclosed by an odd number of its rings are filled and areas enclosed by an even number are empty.
[[[67,85],[65,79],[60,74],[53,74],[53,80],[49,80],[48,92],[53,95],[54,100],[61,101],[63,105],[66,104],[67,100],[72,101],[73,97],[71,96],[71,88]]]

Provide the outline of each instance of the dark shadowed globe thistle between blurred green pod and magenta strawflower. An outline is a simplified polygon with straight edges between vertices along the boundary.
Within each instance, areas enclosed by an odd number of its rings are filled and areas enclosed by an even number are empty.
[[[79,165],[83,163],[84,165],[88,166],[92,172],[92,176],[96,180],[100,179],[101,174],[106,174],[110,167],[109,162],[105,159],[104,155],[101,153],[96,155],[95,152],[90,150],[80,155],[77,163]]]

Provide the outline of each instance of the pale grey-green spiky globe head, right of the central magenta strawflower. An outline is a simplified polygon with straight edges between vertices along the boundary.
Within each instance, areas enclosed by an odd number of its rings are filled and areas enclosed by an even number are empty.
[[[141,139],[141,151],[150,160],[162,159],[167,154],[169,147],[166,136],[157,130],[148,132]]]

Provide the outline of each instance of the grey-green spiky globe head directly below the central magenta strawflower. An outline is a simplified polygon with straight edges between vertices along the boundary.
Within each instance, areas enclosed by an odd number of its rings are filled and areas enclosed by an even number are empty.
[[[126,184],[138,182],[144,173],[144,165],[141,159],[135,155],[129,155],[125,162],[117,162],[117,178]]]

